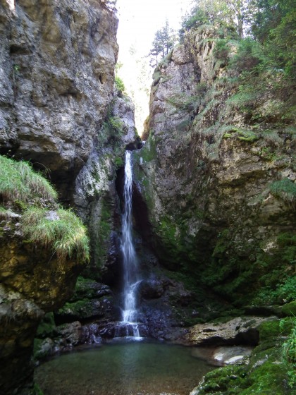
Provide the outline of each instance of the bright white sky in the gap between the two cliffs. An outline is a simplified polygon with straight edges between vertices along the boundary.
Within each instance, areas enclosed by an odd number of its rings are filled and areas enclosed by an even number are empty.
[[[118,0],[118,75],[135,104],[136,127],[142,133],[142,123],[149,115],[149,88],[152,68],[147,54],[152,49],[156,30],[168,19],[178,30],[182,16],[190,10],[192,0]]]

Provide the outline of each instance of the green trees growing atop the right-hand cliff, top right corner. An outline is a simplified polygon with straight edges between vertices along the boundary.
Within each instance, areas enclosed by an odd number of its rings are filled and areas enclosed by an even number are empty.
[[[246,60],[245,66],[240,65],[241,70],[257,66],[254,63],[258,64],[258,59],[265,56],[266,66],[283,71],[290,80],[296,79],[295,0],[195,0],[194,3],[191,12],[183,18],[181,40],[192,28],[212,25],[222,39],[247,39],[240,46],[241,62]]]

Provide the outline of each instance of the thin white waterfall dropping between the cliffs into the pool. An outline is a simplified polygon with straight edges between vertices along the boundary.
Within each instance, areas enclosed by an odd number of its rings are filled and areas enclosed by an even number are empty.
[[[126,335],[139,337],[137,327],[137,255],[132,241],[132,156],[125,152],[124,210],[122,219],[121,251],[123,254],[123,310],[122,323],[126,326]]]

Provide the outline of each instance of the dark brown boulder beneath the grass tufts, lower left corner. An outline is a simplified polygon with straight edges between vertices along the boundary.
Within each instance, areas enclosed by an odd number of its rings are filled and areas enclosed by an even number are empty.
[[[6,221],[0,238],[1,394],[30,394],[32,349],[44,312],[70,298],[83,265],[61,262],[47,249],[23,243],[18,218]],[[14,392],[16,391],[16,392]]]

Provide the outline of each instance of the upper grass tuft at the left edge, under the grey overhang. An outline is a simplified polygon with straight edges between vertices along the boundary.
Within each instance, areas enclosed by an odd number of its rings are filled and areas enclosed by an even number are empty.
[[[4,201],[27,203],[34,198],[54,202],[58,194],[28,162],[16,162],[0,155],[0,196]]]

